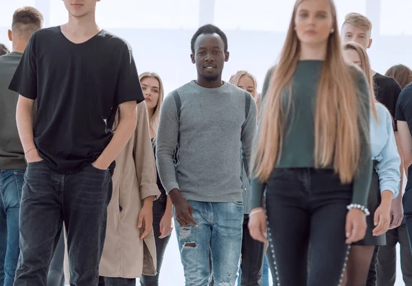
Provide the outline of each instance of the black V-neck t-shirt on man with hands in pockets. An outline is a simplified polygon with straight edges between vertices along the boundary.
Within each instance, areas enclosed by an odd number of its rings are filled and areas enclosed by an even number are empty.
[[[60,27],[38,30],[9,88],[36,100],[34,144],[60,174],[80,171],[102,154],[119,104],[144,100],[132,49],[105,30],[81,44]]]

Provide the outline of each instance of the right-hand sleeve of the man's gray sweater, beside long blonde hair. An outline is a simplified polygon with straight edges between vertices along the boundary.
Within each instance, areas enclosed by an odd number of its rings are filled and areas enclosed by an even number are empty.
[[[247,96],[252,97],[247,94]],[[244,169],[249,171],[249,165],[251,163],[251,156],[252,156],[252,145],[253,145],[253,138],[255,137],[256,132],[256,119],[257,119],[258,108],[256,107],[255,100],[251,98],[251,104],[249,106],[249,112],[247,115],[247,119],[245,119],[244,124],[242,126],[242,157],[244,162]],[[249,176],[249,174],[248,174]]]

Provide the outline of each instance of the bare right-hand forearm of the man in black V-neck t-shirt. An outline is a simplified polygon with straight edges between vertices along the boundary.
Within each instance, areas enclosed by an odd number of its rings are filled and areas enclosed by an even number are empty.
[[[122,152],[130,140],[137,125],[136,102],[125,102],[119,105],[119,125],[110,143],[106,146],[99,158],[93,162],[98,169],[107,169],[115,158]]]

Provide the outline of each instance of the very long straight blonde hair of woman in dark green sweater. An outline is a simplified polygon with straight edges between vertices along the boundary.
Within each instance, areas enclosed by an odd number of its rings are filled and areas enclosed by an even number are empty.
[[[294,29],[295,16],[302,1],[304,0],[297,0],[295,3],[286,41],[264,97],[257,148],[253,156],[254,175],[263,181],[268,180],[282,154],[286,112],[281,100],[282,93],[290,87],[289,102],[291,101],[293,73],[300,53],[299,39]],[[317,94],[314,167],[327,167],[333,163],[341,182],[352,182],[361,158],[361,136],[369,138],[369,126],[359,112],[353,71],[343,59],[341,39],[337,32],[336,8],[332,0],[330,6],[334,32],[328,38]]]

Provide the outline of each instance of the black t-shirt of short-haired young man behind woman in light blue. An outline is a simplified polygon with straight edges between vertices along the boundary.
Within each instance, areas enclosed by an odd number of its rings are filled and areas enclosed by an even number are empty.
[[[374,75],[375,95],[378,102],[386,106],[393,118],[395,118],[396,102],[402,88],[394,78],[376,73]],[[395,131],[398,131],[398,126],[395,120]]]

